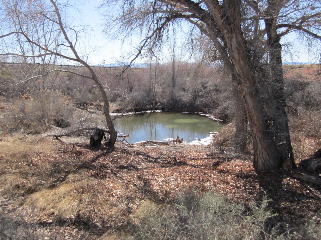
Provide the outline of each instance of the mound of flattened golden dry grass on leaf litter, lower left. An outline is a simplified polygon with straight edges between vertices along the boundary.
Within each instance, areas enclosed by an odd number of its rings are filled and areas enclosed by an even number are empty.
[[[35,204],[39,214],[50,214],[58,219],[76,218],[108,220],[105,214],[110,208],[108,196],[111,189],[101,180],[93,179],[82,172],[70,174],[64,182],[53,189],[38,191],[25,201],[25,205]]]

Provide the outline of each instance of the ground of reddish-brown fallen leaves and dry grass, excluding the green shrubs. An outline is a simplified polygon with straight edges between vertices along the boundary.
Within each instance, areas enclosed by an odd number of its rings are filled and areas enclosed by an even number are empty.
[[[124,228],[145,201],[170,203],[189,189],[242,204],[266,195],[281,229],[320,216],[320,187],[284,173],[258,176],[251,153],[186,145],[91,148],[66,140],[18,135],[0,142],[1,215],[21,236],[26,228],[43,239],[97,239]]]

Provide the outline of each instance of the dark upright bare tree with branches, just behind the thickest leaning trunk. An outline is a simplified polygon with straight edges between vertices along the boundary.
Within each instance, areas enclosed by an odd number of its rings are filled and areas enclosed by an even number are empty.
[[[266,49],[269,59],[269,114],[273,117],[274,137],[279,151],[283,156],[290,157],[292,168],[296,168],[289,134],[286,115],[286,100],[284,96],[284,81],[282,68],[281,37],[299,31],[308,44],[313,40],[321,40],[320,36],[320,1],[282,1],[269,0],[267,6],[259,15],[265,22]],[[259,6],[256,6],[259,9]],[[311,39],[312,37],[312,39]]]

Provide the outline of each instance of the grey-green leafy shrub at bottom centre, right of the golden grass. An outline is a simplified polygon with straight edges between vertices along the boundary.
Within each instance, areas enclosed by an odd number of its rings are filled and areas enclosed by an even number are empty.
[[[273,214],[268,201],[230,203],[214,193],[178,196],[176,204],[153,207],[140,218],[135,239],[262,239],[265,223]],[[266,236],[268,234],[266,233]]]

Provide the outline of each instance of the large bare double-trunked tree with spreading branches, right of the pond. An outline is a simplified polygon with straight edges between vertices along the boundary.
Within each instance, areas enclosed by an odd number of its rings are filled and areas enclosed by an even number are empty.
[[[277,171],[292,156],[279,40],[294,30],[319,39],[320,1],[133,0],[123,4],[105,1],[104,5],[114,6],[119,13],[109,18],[115,36],[130,36],[136,30],[145,34],[136,58],[147,48],[161,46],[169,27],[182,20],[189,24],[192,40],[206,36],[244,103],[256,172]]]

